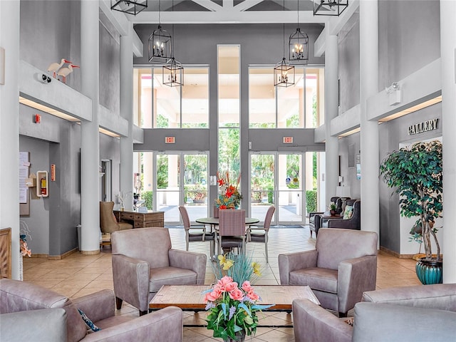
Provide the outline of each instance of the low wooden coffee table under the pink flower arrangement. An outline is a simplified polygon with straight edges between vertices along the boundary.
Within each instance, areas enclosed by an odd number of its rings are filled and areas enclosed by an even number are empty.
[[[291,311],[291,302],[297,298],[306,298],[320,305],[309,286],[254,285],[253,287],[261,299],[259,304],[274,304],[267,309],[268,311]],[[203,292],[210,288],[210,285],[164,285],[150,301],[149,309],[177,306],[182,310],[202,311],[206,307]]]

